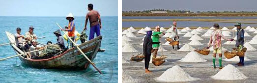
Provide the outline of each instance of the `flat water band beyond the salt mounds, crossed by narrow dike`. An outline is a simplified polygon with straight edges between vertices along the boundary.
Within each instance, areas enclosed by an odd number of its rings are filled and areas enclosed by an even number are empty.
[[[143,17],[122,17],[122,19],[257,19],[257,17],[167,17],[167,16],[143,16]],[[257,23],[257,21],[233,21],[245,23]],[[221,22],[200,22],[200,21],[178,21],[177,27],[212,27],[214,23],[218,23],[220,27],[233,27],[235,23]],[[122,28],[154,28],[159,25],[168,28],[172,24],[171,21],[122,21]],[[256,24],[242,24],[242,27],[257,27]]]

